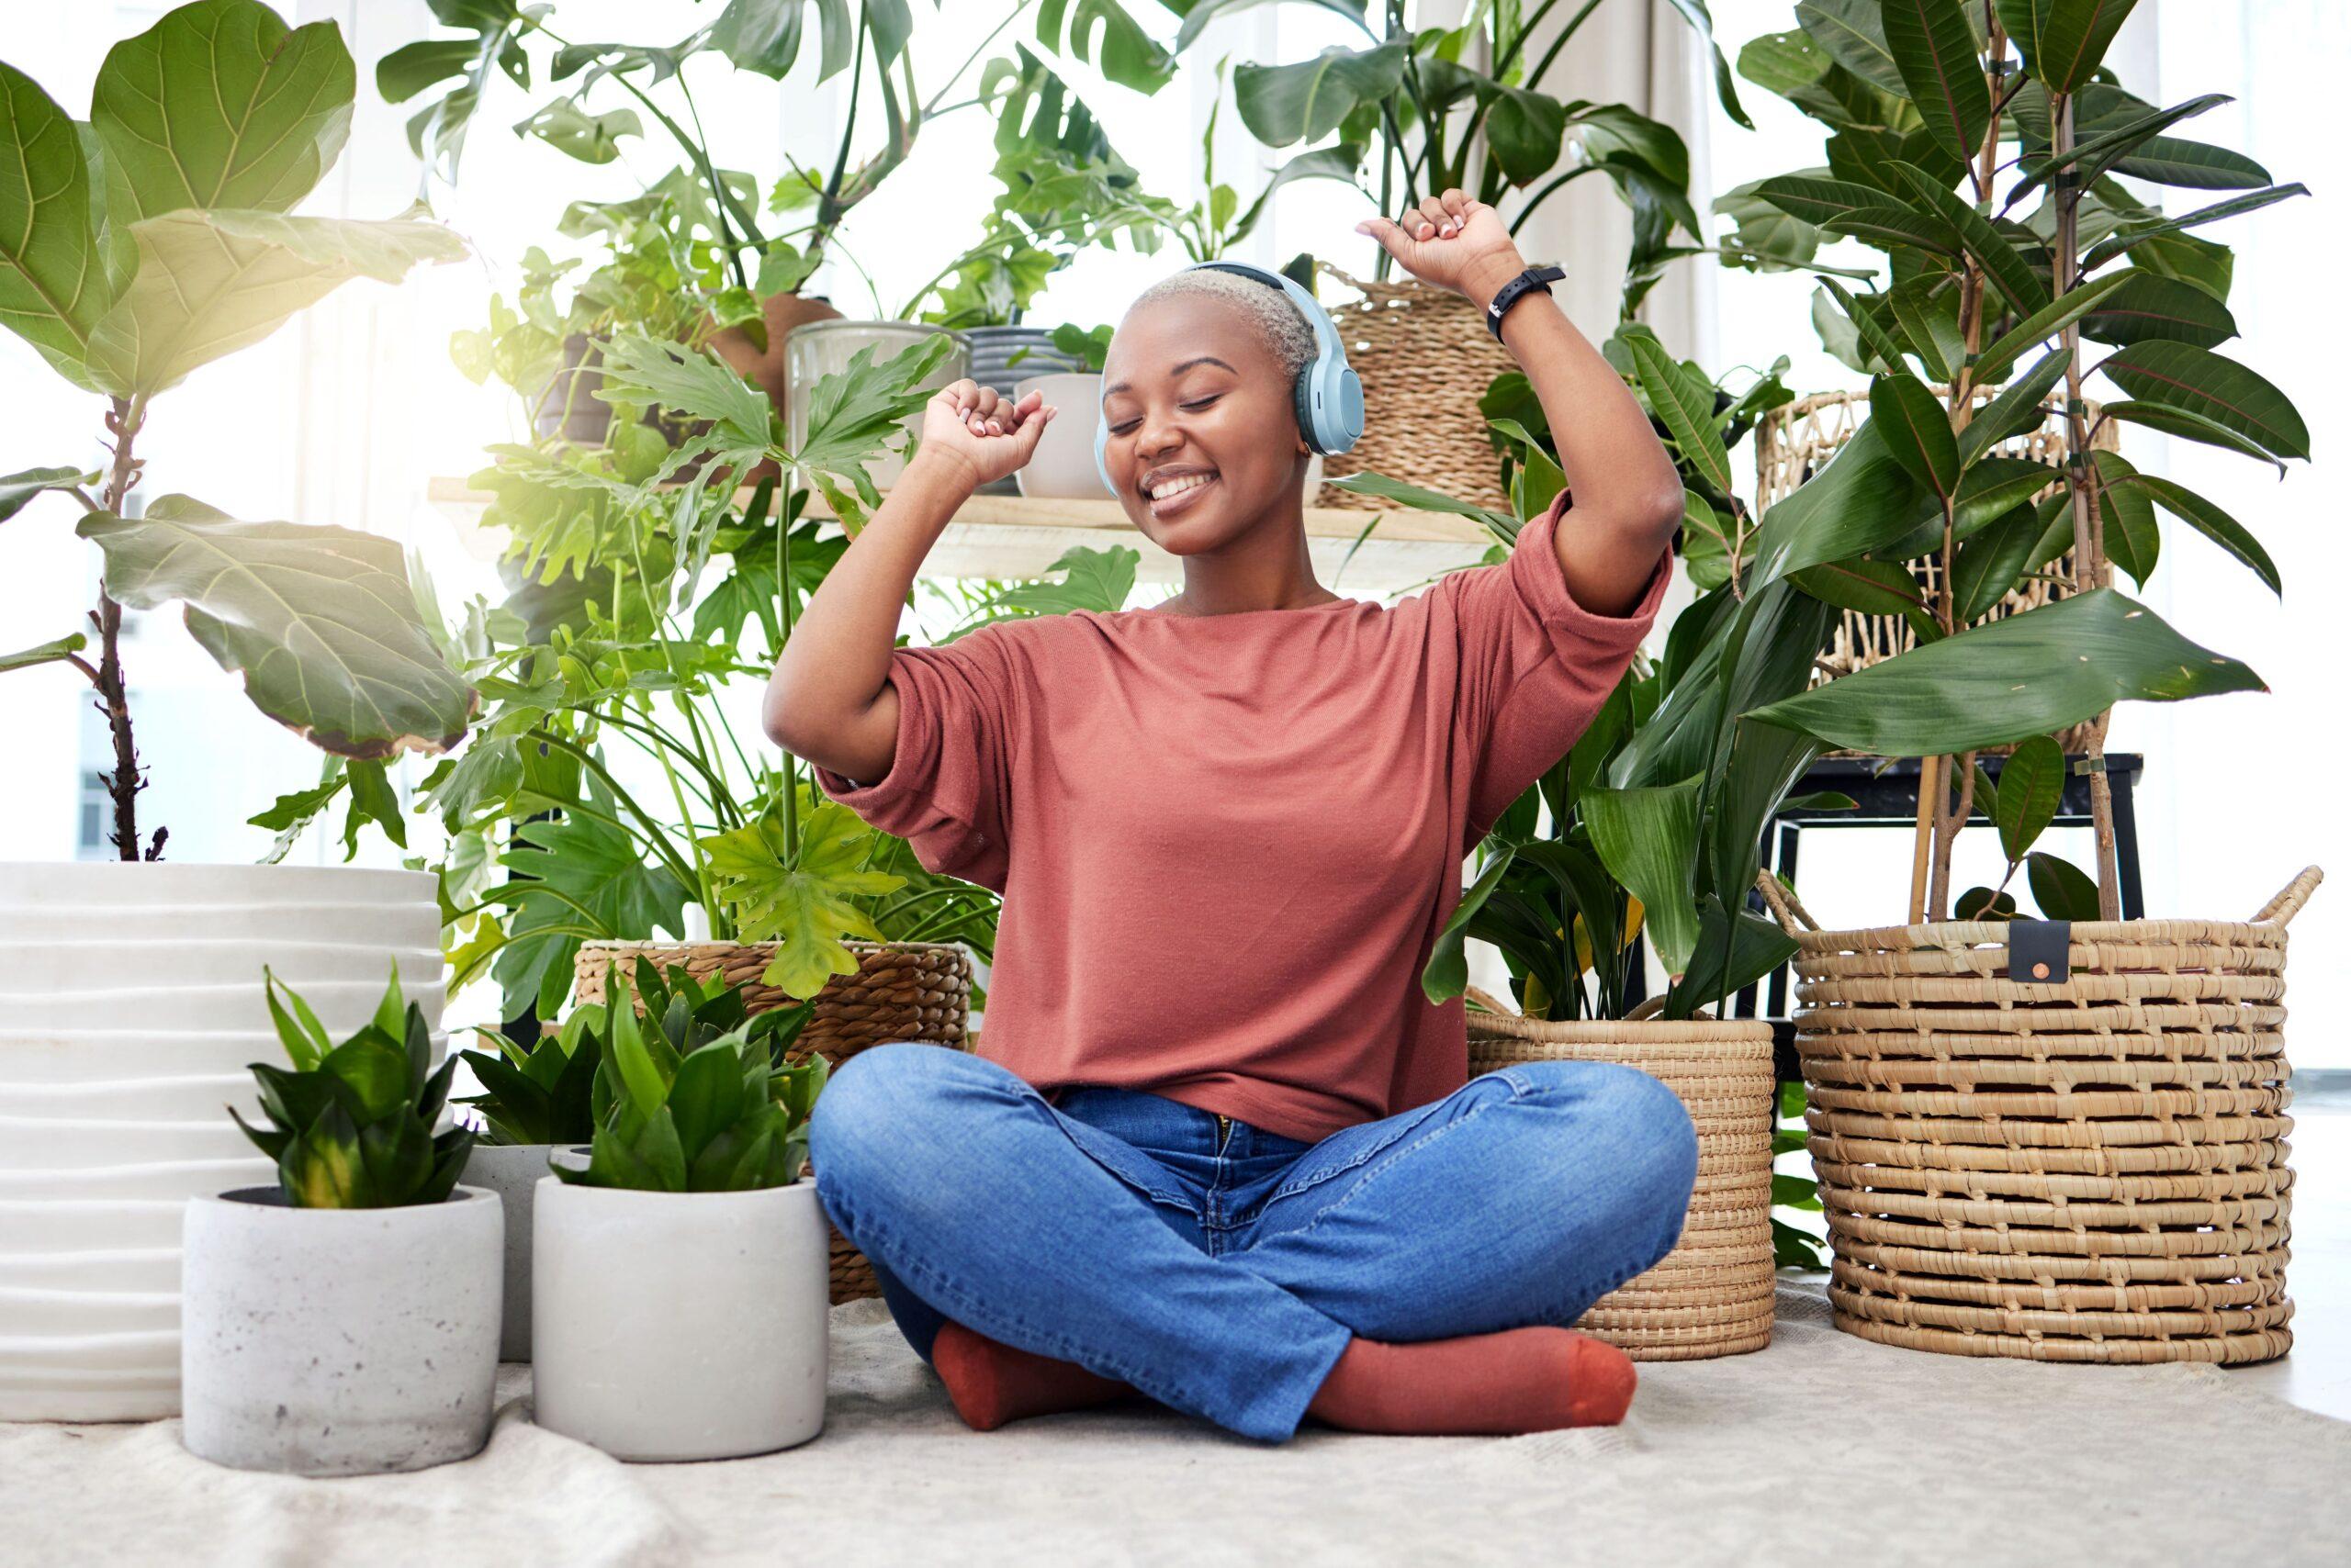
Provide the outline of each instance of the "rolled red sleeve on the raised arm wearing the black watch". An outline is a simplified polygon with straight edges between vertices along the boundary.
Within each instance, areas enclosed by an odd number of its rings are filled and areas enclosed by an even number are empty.
[[[1657,618],[1674,576],[1662,552],[1641,602],[1601,616],[1575,602],[1554,536],[1568,494],[1519,529],[1509,559],[1455,571],[1462,710],[1476,771],[1469,842],[1523,795],[1592,724]]]

